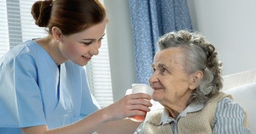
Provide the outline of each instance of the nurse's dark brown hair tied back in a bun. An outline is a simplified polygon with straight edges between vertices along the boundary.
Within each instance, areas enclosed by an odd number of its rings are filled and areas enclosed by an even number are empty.
[[[58,27],[64,35],[79,33],[106,18],[106,9],[98,0],[36,1],[31,9],[35,24],[49,34]]]

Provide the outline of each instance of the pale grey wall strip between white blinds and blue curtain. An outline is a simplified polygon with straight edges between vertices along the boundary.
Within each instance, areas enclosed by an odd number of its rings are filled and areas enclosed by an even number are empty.
[[[108,50],[114,101],[124,96],[131,84],[136,82],[134,65],[134,42],[128,1],[106,0]]]

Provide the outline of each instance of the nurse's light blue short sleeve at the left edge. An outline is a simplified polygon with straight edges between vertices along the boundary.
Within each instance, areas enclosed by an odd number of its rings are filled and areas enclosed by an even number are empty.
[[[15,58],[0,69],[0,127],[46,124],[33,58]]]

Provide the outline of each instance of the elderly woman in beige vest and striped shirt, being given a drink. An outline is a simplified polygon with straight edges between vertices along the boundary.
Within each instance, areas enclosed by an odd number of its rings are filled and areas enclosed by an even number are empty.
[[[222,88],[221,62],[198,33],[168,33],[158,41],[150,86],[164,105],[148,113],[138,133],[250,133],[245,112]]]

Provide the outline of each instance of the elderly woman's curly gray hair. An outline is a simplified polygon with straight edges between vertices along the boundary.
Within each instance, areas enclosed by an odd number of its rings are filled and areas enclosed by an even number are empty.
[[[165,34],[158,40],[160,50],[180,47],[184,54],[184,71],[192,74],[201,70],[203,79],[194,90],[191,102],[206,102],[221,90],[221,62],[217,57],[214,46],[199,33],[178,31]]]

